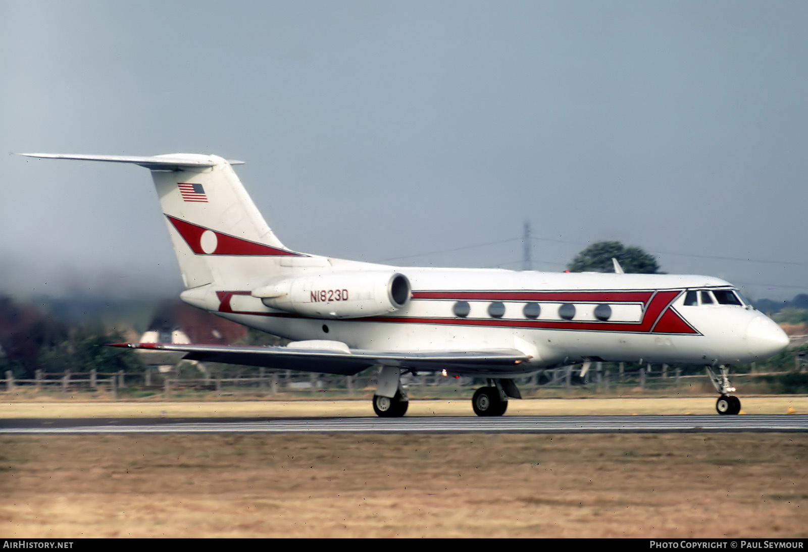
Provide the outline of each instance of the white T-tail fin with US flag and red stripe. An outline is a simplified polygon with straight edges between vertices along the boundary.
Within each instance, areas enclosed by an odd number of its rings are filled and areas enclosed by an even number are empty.
[[[250,289],[279,274],[282,259],[308,257],[286,249],[267,226],[231,166],[241,161],[196,153],[22,155],[132,163],[150,169],[187,288],[214,284],[217,289]]]

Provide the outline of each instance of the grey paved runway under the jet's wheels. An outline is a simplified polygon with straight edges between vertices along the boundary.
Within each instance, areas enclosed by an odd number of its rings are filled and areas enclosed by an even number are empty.
[[[808,432],[808,415],[6,419],[2,434]]]

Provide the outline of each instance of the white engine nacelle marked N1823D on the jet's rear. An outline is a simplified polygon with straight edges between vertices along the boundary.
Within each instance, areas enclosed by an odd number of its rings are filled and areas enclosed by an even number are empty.
[[[267,307],[315,318],[360,318],[397,311],[410,301],[404,274],[379,270],[288,278],[252,292]]]

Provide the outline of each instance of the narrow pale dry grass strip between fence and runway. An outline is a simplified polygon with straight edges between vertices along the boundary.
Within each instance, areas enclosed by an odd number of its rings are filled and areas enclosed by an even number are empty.
[[[747,414],[808,413],[808,397],[775,395],[743,396]],[[715,415],[715,397],[682,399],[524,399],[511,400],[507,416],[631,415],[631,414]],[[115,418],[115,417],[227,417],[227,416],[374,416],[369,400],[330,401],[228,401],[228,402],[58,402],[0,403],[4,418]],[[407,416],[473,416],[471,402],[463,400],[412,400]]]

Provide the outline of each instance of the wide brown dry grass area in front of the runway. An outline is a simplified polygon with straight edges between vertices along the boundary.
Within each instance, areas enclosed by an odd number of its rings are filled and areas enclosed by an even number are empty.
[[[808,434],[0,439],[2,537],[806,537]]]

